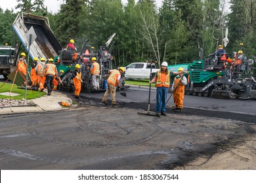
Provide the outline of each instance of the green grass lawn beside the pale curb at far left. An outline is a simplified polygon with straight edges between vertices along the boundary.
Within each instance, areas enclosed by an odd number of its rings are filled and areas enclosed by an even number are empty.
[[[3,82],[0,82],[0,87],[3,85]],[[0,93],[4,93],[4,92],[10,92],[11,91],[11,87],[12,84],[8,84],[5,83],[1,88],[0,88]],[[13,85],[12,87],[12,93],[17,93],[20,94],[18,96],[5,96],[5,95],[1,95],[0,94],[0,99],[22,99],[25,96],[25,89],[19,89],[17,88],[18,86],[16,86],[16,84]],[[30,90],[30,88],[27,88],[27,98],[28,100],[30,99],[35,99],[35,98],[39,98],[43,95],[45,95],[45,92],[39,92],[39,91],[33,91]]]

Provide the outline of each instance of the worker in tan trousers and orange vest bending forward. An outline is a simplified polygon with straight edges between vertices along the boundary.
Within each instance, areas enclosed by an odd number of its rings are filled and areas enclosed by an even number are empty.
[[[108,77],[108,87],[104,94],[104,97],[102,98],[102,103],[104,105],[107,105],[106,99],[108,97],[108,93],[111,94],[112,99],[112,106],[117,105],[116,103],[116,86],[119,88],[119,79],[121,78],[121,74],[125,72],[125,69],[123,67],[119,67],[119,69],[114,69],[108,71],[110,76]]]

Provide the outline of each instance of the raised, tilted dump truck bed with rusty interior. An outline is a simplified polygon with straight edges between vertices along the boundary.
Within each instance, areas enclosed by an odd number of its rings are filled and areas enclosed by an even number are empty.
[[[33,27],[37,38],[30,46],[30,56],[32,58],[54,58],[62,50],[60,42],[51,30],[48,18],[44,16],[27,13],[18,14],[12,27],[26,50],[28,50],[27,33]]]

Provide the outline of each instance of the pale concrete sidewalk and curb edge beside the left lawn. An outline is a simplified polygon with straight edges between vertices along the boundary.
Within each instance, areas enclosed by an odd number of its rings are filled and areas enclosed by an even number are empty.
[[[67,95],[65,95],[64,93],[53,92],[50,96],[45,95],[37,99],[28,100],[28,103],[30,103],[30,105],[0,108],[0,115],[67,109],[66,107],[62,107],[60,105],[62,101],[65,101],[70,105],[72,104],[72,99],[68,98]]]

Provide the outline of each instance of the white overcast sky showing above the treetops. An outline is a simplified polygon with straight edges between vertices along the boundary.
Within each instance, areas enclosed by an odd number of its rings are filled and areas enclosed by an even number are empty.
[[[136,0],[135,0],[136,1]],[[33,2],[33,0],[32,0]],[[127,3],[127,0],[122,0],[123,4]],[[136,1],[137,2],[137,1]],[[62,3],[62,0],[45,0],[45,6],[47,6],[47,9],[50,12],[58,12],[60,10],[60,5]],[[158,5],[158,7],[161,7],[161,0],[156,0],[156,3]],[[0,7],[3,10],[6,10],[7,8],[9,10],[11,10],[11,8],[13,8],[14,12],[16,12],[15,10],[15,6],[18,5],[18,2],[16,0],[1,0],[0,3]]]

